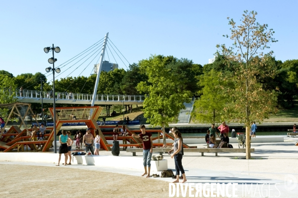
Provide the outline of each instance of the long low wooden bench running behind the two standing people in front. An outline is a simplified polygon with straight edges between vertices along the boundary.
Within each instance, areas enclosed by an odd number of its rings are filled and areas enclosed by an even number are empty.
[[[159,152],[162,155],[163,152],[168,152],[171,148],[152,148],[153,152]],[[201,152],[204,156],[204,152],[215,152],[215,156],[218,156],[218,152],[246,152],[246,148],[183,148],[184,152]],[[137,156],[136,152],[143,152],[143,148],[127,148],[126,152],[132,152],[133,156]],[[250,148],[250,152],[254,152],[254,148]]]

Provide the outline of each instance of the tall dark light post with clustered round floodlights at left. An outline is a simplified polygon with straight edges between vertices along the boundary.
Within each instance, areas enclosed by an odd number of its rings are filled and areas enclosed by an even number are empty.
[[[54,152],[57,153],[57,133],[56,133],[56,103],[55,103],[55,71],[57,73],[60,73],[60,68],[57,68],[55,69],[55,62],[57,61],[57,58],[54,57],[54,51],[56,53],[59,53],[60,52],[60,48],[59,47],[54,47],[54,44],[53,44],[53,47],[47,47],[47,48],[44,48],[44,51],[46,53],[49,53],[49,51],[53,51],[53,57],[52,58],[49,58],[48,59],[48,62],[50,64],[53,64],[53,68],[52,67],[48,67],[46,68],[46,71],[47,72],[50,72],[50,71],[53,71],[53,107],[54,107]]]

